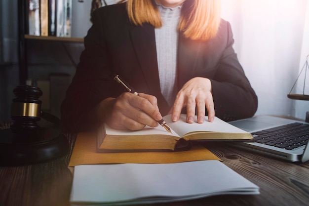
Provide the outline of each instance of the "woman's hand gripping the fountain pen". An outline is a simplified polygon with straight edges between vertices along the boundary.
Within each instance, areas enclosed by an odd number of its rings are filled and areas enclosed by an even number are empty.
[[[115,129],[155,127],[162,119],[156,97],[144,93],[137,96],[124,92],[117,98],[106,98],[96,107],[95,113],[101,122]]]

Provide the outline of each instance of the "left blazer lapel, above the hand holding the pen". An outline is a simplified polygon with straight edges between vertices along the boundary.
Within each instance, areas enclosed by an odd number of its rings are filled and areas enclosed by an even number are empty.
[[[154,91],[155,96],[161,95],[154,27],[150,24],[144,24],[141,27],[134,27],[131,29],[130,34],[137,59],[141,65],[148,87]]]

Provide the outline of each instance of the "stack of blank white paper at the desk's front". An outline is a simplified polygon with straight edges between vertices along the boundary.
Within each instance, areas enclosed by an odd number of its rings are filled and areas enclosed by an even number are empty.
[[[259,194],[259,187],[215,160],[78,165],[74,169],[70,202],[72,206],[123,206],[226,194]]]

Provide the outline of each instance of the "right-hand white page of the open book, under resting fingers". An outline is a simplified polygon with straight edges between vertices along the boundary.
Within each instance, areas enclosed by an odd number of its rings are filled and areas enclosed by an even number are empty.
[[[186,122],[187,115],[181,114],[178,122],[172,121],[171,115],[166,115],[163,117],[165,122],[173,128],[174,131],[181,137],[190,132],[221,132],[221,133],[248,133],[242,129],[239,129],[232,124],[224,122],[219,118],[215,117],[214,121],[211,123],[208,121],[208,117],[205,117],[204,123],[199,124],[196,122],[196,116],[193,124]]]

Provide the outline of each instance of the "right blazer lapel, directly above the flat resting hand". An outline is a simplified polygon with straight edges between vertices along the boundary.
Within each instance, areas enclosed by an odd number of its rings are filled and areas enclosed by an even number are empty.
[[[182,33],[179,33],[177,56],[178,90],[181,89],[188,80],[193,78],[200,45],[200,41],[187,39]]]

